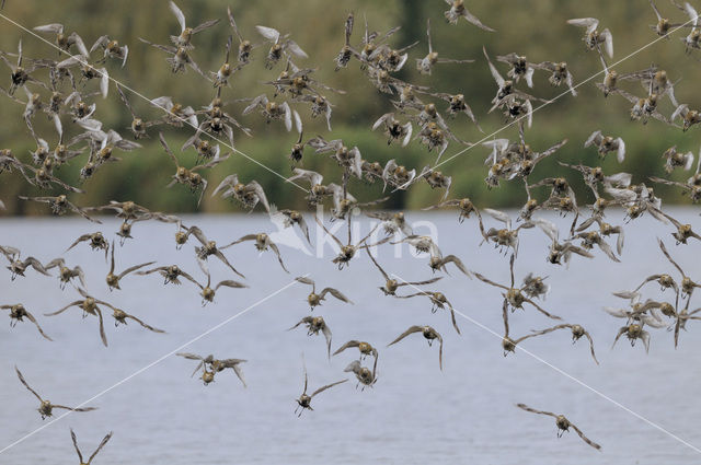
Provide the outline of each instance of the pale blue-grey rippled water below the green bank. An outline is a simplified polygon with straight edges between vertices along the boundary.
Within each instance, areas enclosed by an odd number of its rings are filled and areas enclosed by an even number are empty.
[[[699,224],[693,210],[669,211]],[[616,212],[609,217],[610,222],[622,221]],[[566,231],[568,219],[552,219]],[[470,269],[508,282],[508,257],[487,244],[478,247],[481,237],[474,219],[459,224],[457,213],[450,212],[414,213],[409,220],[434,223],[444,254],[456,254]],[[260,216],[187,218],[188,223],[193,221],[219,244],[275,229]],[[80,234],[101,230],[113,237],[116,228],[113,220],[94,225],[79,219],[2,219],[0,244],[18,246],[48,261]],[[364,228],[367,231],[367,224]],[[194,259],[194,239],[176,251],[174,231],[168,224],[137,223],[135,239],[117,248],[117,270],[158,260],[179,264],[202,279]],[[427,231],[426,226],[417,228],[420,233]],[[520,281],[528,271],[548,275],[552,291],[543,306],[566,322],[581,323],[595,340],[600,365],[593,362],[584,339],[571,344],[568,332],[522,342],[525,349],[567,376],[522,351],[505,358],[499,338],[460,316],[462,335],[457,335],[447,313],[430,313],[427,299],[386,298],[377,289],[382,277],[365,254],[338,271],[331,263],[331,246],[321,258],[280,246],[291,271],[288,275],[271,253],[258,255],[250,242],[237,245],[227,256],[246,275],[250,289],[221,288],[216,302],[203,309],[197,288],[188,282],[163,287],[157,276],[127,276],[122,291],[110,292],[104,282],[104,255],[81,244],[64,256],[69,265],[84,268],[88,291],[168,332],[149,333],[134,323],[115,328],[107,314],[108,348],[100,341],[95,318],[82,319],[78,309],[43,316],[80,299],[77,291],[61,291],[55,276],[32,270],[26,278],[11,282],[3,268],[0,303],[24,303],[55,341],[41,338],[28,323],[10,328],[3,316],[0,449],[46,428],[0,453],[0,464],[77,463],[69,428],[76,430],[85,458],[104,434],[114,431],[95,465],[700,463],[699,452],[595,393],[701,447],[701,324],[688,324],[676,350],[671,333],[653,330],[646,354],[642,344],[631,347],[624,338],[611,349],[623,322],[601,310],[604,305],[625,304],[612,297],[612,291],[634,288],[647,275],[676,272],[657,248],[657,236],[665,239],[688,275],[701,279],[699,243],[691,240],[688,245],[675,246],[670,226],[648,218],[630,223],[627,232],[621,264],[597,253],[593,260],[574,257],[566,269],[545,263],[549,241],[542,232],[522,231],[516,279]],[[345,232],[341,236],[345,240]],[[430,276],[426,257],[414,258],[404,247],[403,258],[395,258],[393,247],[387,245],[378,252],[389,272],[407,280]],[[209,263],[215,282],[235,279],[216,260]],[[430,289],[445,292],[457,310],[502,334],[499,290],[450,269],[451,276]],[[310,313],[304,301],[309,289],[295,284],[274,293],[306,272],[320,287],[334,286],[354,300],[355,304],[348,305],[330,299],[314,314],[324,316],[331,327],[334,349],[349,339],[367,340],[379,348],[379,380],[365,392],[355,387],[355,380],[326,391],[313,399],[314,411],[297,418],[294,410],[302,390],[302,352],[310,391],[349,377],[343,369],[357,358],[356,351],[348,350],[330,362],[323,337],[307,337],[301,327],[286,332]],[[660,294],[654,283],[644,290],[645,298],[671,299],[669,291]],[[219,373],[215,383],[204,386],[196,376],[189,377],[195,362],[175,356],[139,372],[264,298],[268,300],[183,349],[246,359],[242,368],[248,388],[231,371]],[[699,301],[692,301],[692,307],[694,303]],[[527,307],[512,315],[512,335],[518,337],[552,323]],[[444,335],[443,372],[437,347],[429,348],[421,335],[386,347],[414,324],[429,324]],[[28,383],[54,403],[74,406],[104,392],[89,403],[99,409],[71,414],[51,425],[50,420],[42,421],[35,410],[37,400],[15,376],[15,364]],[[516,408],[516,403],[565,414],[600,443],[602,451],[587,446],[574,431],[558,439],[551,418],[527,414]]]

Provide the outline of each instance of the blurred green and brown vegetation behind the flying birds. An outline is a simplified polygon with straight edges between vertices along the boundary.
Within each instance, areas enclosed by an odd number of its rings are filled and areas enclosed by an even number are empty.
[[[660,0],[658,3],[663,14],[670,18],[673,22],[688,20],[687,15],[676,9],[671,2]],[[315,79],[346,91],[345,95],[325,94],[334,105],[331,133],[322,118],[311,118],[308,104],[292,105],[302,116],[304,138],[320,135],[327,140],[343,139],[348,147],[357,146],[364,159],[368,161],[379,161],[384,164],[387,160],[395,159],[400,164],[416,167],[417,171],[435,161],[435,152],[427,152],[417,140],[412,141],[406,148],[398,144],[388,146],[381,130],[371,131],[372,123],[382,114],[393,109],[390,102],[392,96],[376,90],[359,69],[357,60],[353,60],[347,69],[334,72],[333,59],[343,46],[343,28],[348,12],[355,12],[356,16],[352,36],[352,44],[355,47],[359,47],[364,34],[364,16],[367,16],[370,31],[384,32],[392,26],[401,26],[401,30],[389,40],[394,48],[420,40],[420,44],[410,50],[410,59],[397,77],[412,83],[429,85],[437,92],[463,93],[484,132],[480,132],[464,115],[458,115],[449,124],[458,137],[472,142],[491,135],[505,124],[501,113],[487,114],[496,86],[482,54],[482,46],[486,47],[494,61],[496,55],[506,55],[512,51],[526,55],[532,62],[566,61],[576,84],[600,71],[601,66],[598,56],[585,49],[582,42],[584,30],[567,25],[567,19],[600,15],[606,12],[606,16],[599,18],[601,20],[599,28],[608,27],[613,34],[614,60],[622,59],[658,38],[648,27],[648,24],[654,24],[656,21],[650,4],[644,0],[617,2],[593,0],[586,3],[575,0],[470,2],[469,8],[472,13],[483,23],[495,28],[496,33],[484,32],[463,20],[455,26],[447,24],[443,16],[447,4],[439,0],[386,0],[382,2],[192,0],[181,1],[180,7],[187,18],[188,25],[196,25],[214,18],[222,19],[215,27],[196,35],[193,40],[196,48],[192,51],[192,57],[205,71],[216,71],[223,60],[225,44],[227,37],[232,34],[226,21],[227,7],[231,7],[243,36],[254,44],[263,44],[263,38],[254,28],[256,24],[275,27],[283,34],[291,33],[291,38],[310,56],[306,60],[296,60],[297,65],[302,68],[318,68]],[[699,5],[696,7],[699,8]],[[128,45],[130,54],[127,66],[120,69],[116,60],[107,60],[106,67],[111,77],[131,86],[148,98],[171,95],[176,102],[199,108],[207,105],[215,94],[211,84],[204,82],[192,70],[185,74],[173,75],[165,62],[166,55],[139,42],[139,37],[143,37],[153,43],[168,44],[169,35],[176,35],[180,32],[177,21],[168,9],[165,0],[148,2],[8,0],[2,13],[27,28],[54,22],[64,23],[66,32],[78,32],[88,47],[103,34],[108,34],[122,44]],[[437,65],[433,75],[420,75],[415,70],[415,59],[424,57],[427,53],[426,19],[428,18],[433,24],[434,48],[440,53],[441,57],[475,61],[468,65]],[[58,58],[55,48],[21,31],[4,19],[0,20],[0,49],[2,50],[14,53],[19,39],[22,38],[26,57]],[[658,65],[666,69],[671,81],[677,83],[677,100],[680,103],[688,103],[691,107],[698,107],[699,95],[696,82],[701,65],[698,56],[685,54],[680,42],[680,37],[685,35],[686,32],[677,32],[669,39],[660,39],[616,68],[619,72],[629,72],[646,68],[651,63]],[[54,39],[49,34],[45,37],[48,40]],[[237,45],[234,37],[234,47]],[[253,63],[234,74],[230,86],[223,91],[225,101],[254,97],[261,93],[272,96],[272,88],[264,85],[263,82],[276,79],[284,63],[278,63],[273,70],[266,70],[263,61],[267,48],[268,45],[257,47],[253,53]],[[99,51],[95,51],[93,57],[97,54]],[[10,84],[10,70],[4,65],[0,67],[4,70],[0,84],[7,88]],[[497,63],[497,68],[503,75],[506,75],[508,70],[506,65]],[[41,71],[37,75],[44,79],[46,72]],[[535,88],[528,90],[521,82],[519,89],[543,98],[551,98],[565,91],[564,88],[552,88],[548,77],[549,73],[537,71]],[[602,77],[596,78],[577,89],[578,96],[564,95],[542,111],[538,111],[533,117],[533,127],[526,135],[527,142],[536,151],[545,150],[564,138],[568,139],[568,143],[555,156],[538,165],[529,181],[535,183],[555,172],[565,175],[575,186],[579,205],[591,202],[590,193],[585,190],[584,184],[575,172],[563,172],[564,168],[559,166],[556,161],[600,164],[607,173],[632,172],[635,175],[634,182],[639,183],[644,182],[647,176],[665,174],[662,154],[667,148],[676,144],[681,151],[691,150],[694,153],[698,153],[699,149],[698,128],[692,128],[685,133],[681,129],[654,119],[647,125],[631,121],[629,117],[631,105],[628,101],[617,95],[604,98],[595,88],[594,82],[601,79]],[[96,89],[96,82],[84,85],[88,91]],[[621,86],[641,96],[645,92],[636,82],[623,83]],[[43,96],[48,97],[46,91],[36,89]],[[24,98],[22,91],[16,95]],[[161,117],[160,111],[150,107],[142,98],[134,94],[128,94],[128,97],[140,116],[147,119]],[[34,150],[35,143],[21,116],[23,106],[4,96],[1,98],[3,104],[0,105],[0,118],[3,124],[0,125],[0,148],[11,149],[16,156],[28,163],[31,156],[27,151]],[[278,96],[278,100],[280,98]],[[130,138],[127,127],[131,117],[120,103],[114,84],[111,85],[108,97],[104,101],[97,97],[96,103],[97,111],[94,116],[104,121],[106,128],[114,128],[125,138]],[[291,144],[297,140],[297,133],[286,132],[283,125],[277,121],[267,125],[255,112],[241,116],[245,105],[242,102],[234,102],[227,106],[227,111],[232,116],[253,129],[252,138],[239,131],[234,132],[237,149],[283,176],[288,176],[290,174],[288,154]],[[445,109],[447,104],[440,103],[438,106]],[[667,116],[674,112],[668,98],[663,98],[660,112]],[[71,137],[78,133],[79,128],[70,125],[68,118],[69,116],[64,116],[64,126],[66,137]],[[39,136],[54,147],[57,142],[56,131],[44,114],[35,117],[35,127]],[[164,131],[173,149],[177,149],[194,131],[192,128],[174,129],[168,126],[159,128]],[[606,135],[620,136],[624,139],[628,148],[624,163],[619,165],[616,158],[611,155],[601,161],[596,149],[583,148],[586,138],[597,129],[604,130]],[[110,164],[99,171],[93,178],[81,185],[85,194],[71,199],[80,206],[129,199],[151,209],[168,212],[235,211],[239,207],[211,198],[210,193],[226,175],[238,173],[243,182],[257,179],[264,186],[268,199],[280,208],[306,208],[304,194],[301,190],[240,154],[234,154],[206,174],[209,187],[202,205],[197,208],[197,196],[191,194],[187,187],[176,185],[171,189],[164,188],[170,182],[174,166],[158,143],[157,133],[158,129],[151,128],[151,137],[140,141],[143,144],[142,149],[118,153],[123,159],[122,162]],[[494,137],[516,140],[518,131],[514,126]],[[461,149],[463,149],[462,146],[451,143],[444,159]],[[445,174],[452,176],[450,197],[469,196],[478,206],[522,205],[526,196],[520,181],[503,182],[499,188],[492,190],[486,188],[484,177],[487,166],[484,165],[484,160],[487,154],[486,148],[475,147],[440,167]],[[192,149],[183,154],[176,150],[176,155],[183,165],[194,165],[195,152]],[[78,184],[78,172],[87,158],[88,153],[70,165],[62,166],[58,176],[70,184]],[[321,172],[325,176],[325,182],[340,179],[336,163],[327,155],[313,154],[310,148],[304,152],[301,166]],[[673,174],[676,179],[686,179],[688,176],[689,173],[680,171]],[[381,189],[382,186],[378,183],[368,187],[357,179],[349,186],[350,193],[359,199],[377,198]],[[655,186],[655,190],[665,198],[666,202],[688,202],[679,189]],[[542,189],[537,194],[547,196],[548,191]],[[0,174],[0,199],[8,208],[7,211],[0,211],[0,214],[41,214],[47,211],[43,205],[19,200],[18,195],[41,194],[21,176]],[[433,191],[425,183],[420,183],[406,193],[394,193],[383,207],[421,208],[439,201],[441,195],[443,191]]]

